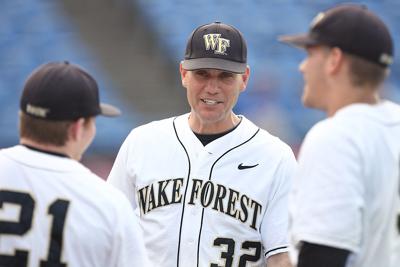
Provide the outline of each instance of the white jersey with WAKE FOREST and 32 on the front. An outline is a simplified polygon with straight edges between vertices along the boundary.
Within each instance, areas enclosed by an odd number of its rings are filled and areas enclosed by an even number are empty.
[[[140,217],[151,266],[265,266],[287,251],[291,149],[245,117],[203,146],[188,118],[134,129],[108,177]]]

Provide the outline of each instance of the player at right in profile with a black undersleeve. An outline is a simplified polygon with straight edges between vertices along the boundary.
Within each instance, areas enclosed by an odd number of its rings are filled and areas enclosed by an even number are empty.
[[[289,198],[297,266],[390,266],[400,254],[400,106],[379,96],[393,61],[389,30],[346,4],[281,41],[307,51],[302,101],[328,116],[306,135]]]

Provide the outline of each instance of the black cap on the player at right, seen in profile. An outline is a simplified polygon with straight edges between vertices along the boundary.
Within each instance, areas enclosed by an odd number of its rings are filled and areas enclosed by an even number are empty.
[[[342,4],[328,9],[314,18],[308,33],[284,35],[279,40],[301,48],[338,47],[382,67],[393,62],[393,40],[387,26],[364,5]]]

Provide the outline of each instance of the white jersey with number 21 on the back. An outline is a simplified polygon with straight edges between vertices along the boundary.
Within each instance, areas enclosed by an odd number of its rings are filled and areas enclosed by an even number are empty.
[[[0,151],[0,266],[146,266],[126,197],[79,162]]]

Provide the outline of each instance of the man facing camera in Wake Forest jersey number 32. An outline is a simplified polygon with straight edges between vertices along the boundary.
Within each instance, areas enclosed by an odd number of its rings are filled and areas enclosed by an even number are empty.
[[[195,29],[180,64],[191,111],[134,129],[108,182],[130,199],[152,266],[290,266],[291,149],[232,108],[249,79],[246,42]]]

